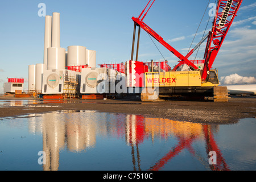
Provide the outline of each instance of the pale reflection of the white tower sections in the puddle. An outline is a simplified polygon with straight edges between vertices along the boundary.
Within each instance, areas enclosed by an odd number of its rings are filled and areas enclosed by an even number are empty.
[[[46,152],[43,169],[46,171],[59,169],[59,153],[66,146],[69,151],[81,152],[96,143],[96,121],[94,117],[90,117],[92,111],[86,111],[86,114],[68,114],[73,112],[77,111],[42,115],[43,151]]]

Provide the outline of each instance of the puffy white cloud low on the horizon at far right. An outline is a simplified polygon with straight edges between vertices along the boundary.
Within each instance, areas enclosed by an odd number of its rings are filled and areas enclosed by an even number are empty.
[[[224,85],[235,85],[235,84],[255,84],[256,78],[255,77],[243,77],[238,75],[237,73],[229,75],[229,76],[223,76],[220,79],[221,84]]]

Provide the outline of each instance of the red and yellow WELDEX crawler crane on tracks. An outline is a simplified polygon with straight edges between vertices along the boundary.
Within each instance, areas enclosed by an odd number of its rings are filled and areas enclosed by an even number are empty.
[[[217,72],[212,70],[212,65],[214,63],[214,60],[216,59],[218,51],[220,51],[222,43],[225,40],[226,34],[228,34],[229,28],[232,25],[233,20],[237,15],[237,11],[241,6],[242,0],[218,0],[216,16],[214,17],[212,30],[186,56],[181,55],[180,52],[178,52],[175,48],[170,46],[170,44],[164,41],[160,35],[158,35],[154,30],[152,30],[152,28],[150,28],[146,23],[143,22],[143,19],[147,15],[148,11],[151,9],[151,6],[155,2],[155,0],[152,1],[151,5],[150,5],[150,2],[151,0],[147,3],[147,6],[143,9],[142,13],[138,16],[138,18],[134,18],[134,17],[132,18],[134,21],[134,35],[133,35],[133,46],[131,51],[131,60],[133,60],[135,33],[136,33],[136,27],[138,26],[139,32],[138,32],[138,41],[137,41],[137,55],[136,55],[135,61],[138,61],[139,37],[141,34],[141,28],[144,31],[146,31],[149,35],[151,35],[154,39],[156,39],[160,44],[166,47],[169,51],[171,51],[180,60],[179,64],[177,64],[176,67],[172,70],[173,72],[176,72],[175,73],[176,75],[172,73],[172,78],[175,77],[176,79],[175,83],[177,84],[165,85],[165,83],[162,83],[161,81],[168,80],[168,77],[166,76],[160,77],[161,74],[158,73],[159,94],[162,94],[162,97],[169,97],[169,96],[174,97],[175,94],[180,95],[181,93],[185,93],[185,94],[196,93],[197,94],[196,96],[203,96],[204,98],[211,97],[216,102],[228,102],[228,89],[226,87],[218,86],[219,81],[218,81]],[[144,13],[144,11],[146,11],[146,13]],[[204,53],[204,67],[203,69],[200,70],[195,64],[193,64],[193,61],[188,60],[188,58],[193,54],[193,52],[195,52],[195,50],[206,39],[208,40],[207,40],[207,46],[205,48],[205,53]],[[194,73],[188,72],[187,77],[184,77],[183,75],[183,77],[181,78],[181,75],[179,75],[179,72],[177,71],[177,69],[183,64],[187,64],[188,67],[195,72]],[[193,80],[193,84],[191,84],[192,82],[191,80],[193,79],[191,75],[195,74],[196,72],[199,73],[200,80],[198,79]],[[151,73],[149,75],[150,76],[156,75],[156,73]],[[178,77],[181,78],[180,79],[181,81],[179,81]],[[193,75],[193,77],[195,78],[195,75]],[[145,81],[146,80],[147,80],[147,74],[146,74]],[[186,80],[186,81],[182,82],[183,80]],[[191,82],[189,83],[189,81]],[[151,85],[147,86],[147,84],[144,84],[144,85],[146,85],[146,87],[151,86]],[[154,84],[153,87],[156,87],[156,84]],[[180,88],[177,88],[177,87],[180,87]],[[158,98],[160,97],[161,96],[159,95]],[[148,93],[142,94],[142,101],[150,101],[148,97]]]

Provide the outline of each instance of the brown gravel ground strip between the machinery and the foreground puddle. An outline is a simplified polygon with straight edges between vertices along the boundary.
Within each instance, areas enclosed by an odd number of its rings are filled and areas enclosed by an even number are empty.
[[[228,103],[199,101],[140,102],[129,100],[30,100],[27,103],[23,100],[23,104],[20,105],[22,100],[14,101],[13,98],[2,100],[1,97],[0,100],[0,119],[61,110],[96,110],[200,123],[226,124],[236,123],[242,118],[256,118],[255,96],[231,97]],[[11,106],[9,102],[14,102],[14,106]]]

